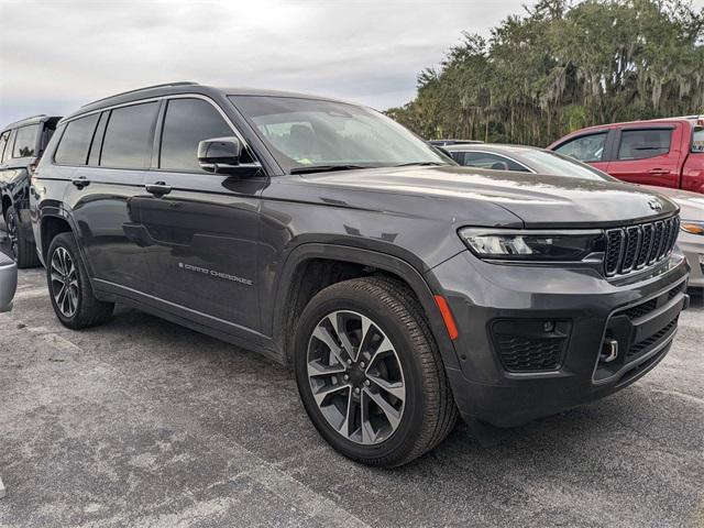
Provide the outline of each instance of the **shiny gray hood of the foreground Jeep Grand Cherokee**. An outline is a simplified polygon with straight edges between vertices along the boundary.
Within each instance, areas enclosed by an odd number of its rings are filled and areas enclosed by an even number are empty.
[[[620,182],[578,179],[473,167],[383,167],[306,175],[314,185],[420,196],[452,215],[492,204],[528,228],[597,227],[666,217],[678,206],[662,195]],[[388,199],[389,204],[392,199]],[[474,215],[475,217],[475,215]],[[461,223],[463,218],[454,218]]]

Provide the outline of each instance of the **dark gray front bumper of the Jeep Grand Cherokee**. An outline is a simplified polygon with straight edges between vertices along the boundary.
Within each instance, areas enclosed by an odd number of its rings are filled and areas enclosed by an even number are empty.
[[[469,252],[428,273],[459,328],[460,367],[447,372],[460,413],[498,427],[635,382],[667,354],[689,304],[688,264],[678,253],[646,276],[619,282],[585,268],[490,264]],[[620,350],[608,363],[605,341]]]

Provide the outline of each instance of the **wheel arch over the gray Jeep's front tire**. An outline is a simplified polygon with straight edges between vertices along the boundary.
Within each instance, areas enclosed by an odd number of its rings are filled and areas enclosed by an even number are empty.
[[[284,361],[290,364],[294,329],[307,301],[331,284],[370,275],[386,275],[406,284],[420,302],[446,367],[459,367],[454,345],[433,297],[433,292],[440,288],[437,284],[429,284],[427,278],[431,277],[424,276],[397,256],[324,243],[306,243],[293,250],[279,276],[274,296],[272,333]],[[312,277],[316,279],[310,280]]]

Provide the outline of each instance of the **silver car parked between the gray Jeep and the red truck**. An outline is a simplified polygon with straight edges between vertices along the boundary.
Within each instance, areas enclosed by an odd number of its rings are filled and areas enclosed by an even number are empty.
[[[532,146],[484,144],[455,145],[446,150],[464,166],[618,182],[598,168],[572,157]],[[680,206],[682,223],[678,244],[692,268],[689,284],[692,287],[704,287],[704,196],[666,187],[642,187],[666,195]]]

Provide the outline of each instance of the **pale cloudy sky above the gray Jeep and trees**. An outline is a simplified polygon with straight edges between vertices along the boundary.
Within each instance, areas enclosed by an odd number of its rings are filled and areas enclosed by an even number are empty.
[[[383,110],[411,100],[418,73],[438,65],[462,31],[488,35],[522,3],[0,0],[0,128],[175,80]]]

